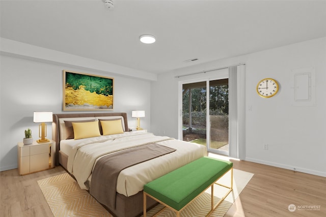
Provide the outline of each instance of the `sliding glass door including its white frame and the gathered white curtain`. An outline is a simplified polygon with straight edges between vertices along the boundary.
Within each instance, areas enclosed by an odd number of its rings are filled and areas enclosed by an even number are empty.
[[[246,158],[246,67],[244,64],[176,76],[178,138],[208,151]]]

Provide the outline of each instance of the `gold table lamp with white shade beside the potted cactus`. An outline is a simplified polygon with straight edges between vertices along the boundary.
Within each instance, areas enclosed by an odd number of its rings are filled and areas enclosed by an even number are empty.
[[[40,123],[39,125],[39,137],[41,139],[37,140],[38,143],[49,142],[50,140],[46,139],[46,124],[45,122],[52,122],[52,112],[51,111],[35,111],[34,120],[35,123]]]

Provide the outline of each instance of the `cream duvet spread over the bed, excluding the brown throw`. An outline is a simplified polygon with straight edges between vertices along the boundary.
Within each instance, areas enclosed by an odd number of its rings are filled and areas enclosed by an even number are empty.
[[[68,171],[74,175],[80,188],[89,190],[96,161],[110,153],[131,147],[157,143],[176,151],[122,170],[117,180],[117,192],[125,196],[137,194],[144,184],[169,173],[189,162],[207,155],[206,147],[151,133],[129,133],[93,137],[76,143],[68,154]]]

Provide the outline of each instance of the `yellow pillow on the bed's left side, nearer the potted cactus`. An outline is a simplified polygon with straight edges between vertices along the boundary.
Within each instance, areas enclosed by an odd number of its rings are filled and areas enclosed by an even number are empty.
[[[84,139],[100,136],[98,121],[92,122],[72,122],[74,139]]]

